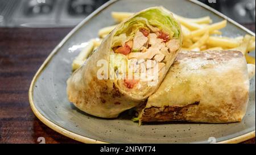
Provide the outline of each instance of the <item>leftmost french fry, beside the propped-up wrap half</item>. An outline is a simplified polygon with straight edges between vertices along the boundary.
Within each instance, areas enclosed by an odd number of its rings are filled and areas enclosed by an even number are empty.
[[[72,69],[73,70],[76,70],[77,68],[79,68],[84,63],[86,58],[90,55],[90,53],[92,53],[93,48],[94,48],[93,40],[90,40],[88,42],[88,45],[86,45],[86,47],[84,47],[84,49],[82,49],[82,51],[75,58],[75,60],[73,60],[73,62],[72,62]]]

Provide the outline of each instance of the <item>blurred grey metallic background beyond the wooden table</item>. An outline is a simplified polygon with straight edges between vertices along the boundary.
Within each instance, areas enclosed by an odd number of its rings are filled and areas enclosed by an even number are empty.
[[[73,27],[107,1],[0,0],[0,27]],[[200,1],[238,23],[255,27],[254,0]]]

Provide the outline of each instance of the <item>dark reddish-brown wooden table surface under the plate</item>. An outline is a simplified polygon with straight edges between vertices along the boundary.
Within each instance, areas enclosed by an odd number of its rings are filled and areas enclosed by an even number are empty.
[[[0,28],[0,143],[79,143],[40,122],[28,102],[32,77],[71,29]]]

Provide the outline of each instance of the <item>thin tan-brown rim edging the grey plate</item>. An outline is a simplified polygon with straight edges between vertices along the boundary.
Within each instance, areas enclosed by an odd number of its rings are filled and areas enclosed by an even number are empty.
[[[101,12],[102,10],[104,10],[106,7],[112,5],[114,2],[117,2],[118,0],[111,0],[109,2],[106,2],[104,5],[102,5],[101,7],[99,7],[96,11],[94,11],[92,14],[90,14],[87,18],[85,18],[84,20],[82,20],[81,23],[79,23],[75,28],[73,28],[73,30],[71,32],[68,33],[67,36],[64,37],[63,40],[61,40],[61,42],[55,47],[55,49],[53,49],[53,51],[50,53],[50,55],[46,58],[46,60],[43,62],[43,64],[40,66],[39,70],[36,72],[35,76],[33,77],[32,81],[31,81],[31,85],[30,85],[30,89],[28,91],[28,99],[30,102],[30,106],[32,111],[34,112],[35,116],[44,124],[46,124],[49,128],[53,129],[54,131],[60,133],[61,135],[67,136],[73,140],[77,140],[80,141],[82,143],[94,143],[94,144],[106,144],[107,142],[105,141],[99,141],[99,140],[94,140],[94,139],[90,139],[88,137],[79,135],[77,133],[74,133],[72,131],[68,131],[67,129],[60,127],[59,125],[51,122],[51,120],[47,119],[45,116],[43,116],[38,109],[36,109],[34,101],[33,101],[33,89],[35,86],[35,82],[36,79],[38,79],[38,77],[40,76],[40,73],[42,73],[43,69],[46,68],[46,66],[48,65],[49,61],[51,61],[51,58],[59,51],[60,47],[63,46],[63,44],[73,35],[73,33],[75,33],[76,31],[78,31],[86,22],[88,22],[90,20],[90,18],[92,18],[93,16],[97,15],[99,12]],[[255,36],[255,33],[253,33],[252,31],[248,30],[247,28],[241,26],[241,24],[238,24],[237,22],[235,22],[234,20],[228,18],[227,16],[225,16],[224,14],[221,14],[220,12],[218,12],[217,10],[212,9],[211,7],[205,5],[204,3],[201,3],[199,1],[196,0],[189,0],[192,3],[195,3],[201,7],[204,7],[205,9],[212,11],[214,14],[220,16],[221,18],[224,18],[226,20],[228,20],[230,23],[234,24],[235,26],[237,26],[238,28],[241,28],[242,30],[246,31],[247,33],[249,33],[250,35]],[[244,135],[241,136],[237,136],[234,137],[232,139],[229,140],[225,140],[225,141],[220,141],[218,143],[220,144],[233,144],[233,143],[240,143],[242,141],[246,141],[249,140],[251,138],[255,137],[255,130],[251,131],[249,133],[245,133]]]

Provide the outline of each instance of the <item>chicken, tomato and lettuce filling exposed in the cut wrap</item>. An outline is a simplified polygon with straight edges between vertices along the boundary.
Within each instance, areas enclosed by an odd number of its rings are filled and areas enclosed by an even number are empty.
[[[131,93],[143,94],[154,86],[167,72],[168,57],[180,48],[179,26],[170,15],[155,10],[149,16],[148,12],[127,21],[112,42],[114,61],[110,64],[115,79]]]

